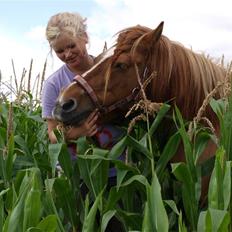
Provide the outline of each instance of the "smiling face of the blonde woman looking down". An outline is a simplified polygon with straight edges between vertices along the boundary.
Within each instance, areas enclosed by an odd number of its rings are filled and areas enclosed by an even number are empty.
[[[57,57],[70,68],[80,68],[86,61],[86,39],[73,37],[69,34],[61,34],[53,42],[52,48]]]

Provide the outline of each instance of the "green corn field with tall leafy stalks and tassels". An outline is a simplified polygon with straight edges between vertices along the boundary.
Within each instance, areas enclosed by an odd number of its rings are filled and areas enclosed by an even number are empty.
[[[71,160],[59,131],[59,142],[49,143],[39,102],[43,76],[34,95],[29,75],[18,83],[14,101],[0,96],[0,231],[232,232],[231,95],[209,101],[220,122],[219,137],[200,121],[186,122],[175,108],[175,130],[163,139],[162,123],[170,117],[170,106],[163,104],[111,150],[79,138],[78,158]],[[217,145],[214,159],[199,164],[210,140]],[[180,143],[186,162],[174,163]],[[119,159],[123,152],[126,161]],[[117,176],[110,186],[111,168]],[[206,175],[210,182],[202,203]]]

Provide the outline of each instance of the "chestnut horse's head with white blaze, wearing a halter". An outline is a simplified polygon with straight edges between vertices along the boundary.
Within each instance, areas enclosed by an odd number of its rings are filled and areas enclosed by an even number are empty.
[[[65,124],[77,124],[96,108],[104,115],[125,112],[139,95],[139,81],[149,70],[147,60],[163,30],[163,22],[152,30],[140,25],[122,30],[115,46],[62,91],[53,115]],[[138,79],[139,78],[139,79]]]

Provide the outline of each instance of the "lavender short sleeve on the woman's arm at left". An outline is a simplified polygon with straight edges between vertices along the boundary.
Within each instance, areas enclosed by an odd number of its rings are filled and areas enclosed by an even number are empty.
[[[59,93],[56,90],[56,87],[51,82],[44,83],[43,90],[42,90],[42,118],[53,118],[52,110],[55,107],[56,99]]]

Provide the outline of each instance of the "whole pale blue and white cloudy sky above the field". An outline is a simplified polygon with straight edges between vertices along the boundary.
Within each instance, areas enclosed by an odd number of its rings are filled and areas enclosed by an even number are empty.
[[[79,12],[87,18],[89,53],[111,46],[118,31],[137,24],[156,28],[164,21],[163,34],[193,51],[216,60],[232,61],[231,0],[0,0],[0,70],[3,81],[17,78],[23,68],[32,78],[42,73],[48,59],[46,78],[61,62],[51,56],[45,39],[49,18],[63,11]]]

